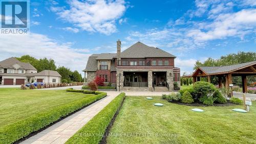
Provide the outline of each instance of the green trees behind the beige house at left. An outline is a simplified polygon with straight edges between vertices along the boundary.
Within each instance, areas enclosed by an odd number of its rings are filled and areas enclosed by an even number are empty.
[[[29,62],[37,69],[37,73],[42,70],[56,70],[61,75],[62,83],[71,83],[71,82],[83,82],[83,78],[77,70],[70,70],[70,68],[65,66],[57,67],[53,59],[40,58],[36,59],[29,55],[24,55],[22,57],[16,58],[21,62]]]

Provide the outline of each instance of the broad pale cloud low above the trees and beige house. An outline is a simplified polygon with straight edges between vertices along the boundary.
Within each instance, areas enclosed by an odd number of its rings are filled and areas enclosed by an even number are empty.
[[[0,58],[31,55],[35,58],[52,58],[58,66],[70,67],[80,73],[90,56],[87,49],[72,49],[72,43],[58,43],[45,35],[0,35]],[[7,46],[8,45],[8,46]]]

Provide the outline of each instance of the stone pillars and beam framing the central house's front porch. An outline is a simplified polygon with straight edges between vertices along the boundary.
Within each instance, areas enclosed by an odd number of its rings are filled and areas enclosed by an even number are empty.
[[[141,87],[123,87],[123,81],[124,81],[124,76],[123,76],[123,71],[132,71],[132,72],[136,72],[136,71],[147,71],[147,82],[148,82],[148,88],[147,90],[149,91],[153,91],[153,71],[166,71],[166,81],[169,84],[169,90],[172,91],[174,90],[174,73],[173,70],[166,70],[166,69],[151,69],[151,70],[147,70],[147,69],[117,69],[117,90],[119,90],[119,74],[121,74],[120,76],[120,90],[142,90],[145,89],[145,87],[141,88]]]

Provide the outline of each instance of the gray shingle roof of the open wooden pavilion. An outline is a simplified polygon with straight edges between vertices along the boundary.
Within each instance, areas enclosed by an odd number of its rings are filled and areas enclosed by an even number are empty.
[[[256,61],[234,64],[234,65],[227,65],[227,66],[200,66],[200,69],[205,71],[205,73],[207,74],[225,73],[225,72],[239,69],[247,65],[251,65],[253,63],[256,64]]]

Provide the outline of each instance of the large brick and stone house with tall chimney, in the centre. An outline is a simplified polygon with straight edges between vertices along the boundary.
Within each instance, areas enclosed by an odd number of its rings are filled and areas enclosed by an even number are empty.
[[[117,41],[117,53],[93,54],[86,69],[88,82],[96,76],[105,79],[119,90],[153,90],[180,84],[180,68],[175,67],[175,56],[157,47],[137,42],[121,52]],[[120,82],[119,82],[120,81]]]

